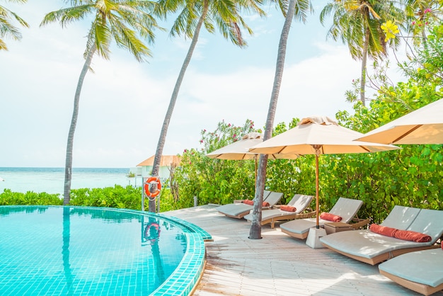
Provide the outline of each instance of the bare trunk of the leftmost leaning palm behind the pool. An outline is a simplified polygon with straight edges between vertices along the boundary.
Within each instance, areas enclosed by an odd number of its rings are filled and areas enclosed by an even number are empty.
[[[72,148],[74,147],[74,132],[76,130],[77,118],[79,117],[79,102],[81,87],[83,86],[83,81],[85,79],[86,73],[91,66],[91,61],[94,53],[96,52],[96,47],[92,47],[86,56],[83,69],[79,76],[79,82],[77,83],[77,89],[74,96],[74,111],[72,112],[71,126],[69,127],[68,142],[66,148],[66,163],[64,166],[64,193],[63,193],[63,205],[69,205],[71,200],[71,179],[72,179]]]

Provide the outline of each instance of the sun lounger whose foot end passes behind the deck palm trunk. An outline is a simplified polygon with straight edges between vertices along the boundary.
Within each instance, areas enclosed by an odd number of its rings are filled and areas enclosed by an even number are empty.
[[[311,201],[313,199],[312,195],[302,195],[302,194],[296,194],[294,197],[289,200],[289,203],[287,205],[291,207],[295,207],[297,210],[295,212],[288,212],[285,210],[278,209],[272,209],[272,210],[265,210],[262,212],[262,225],[265,225],[267,223],[271,224],[271,228],[274,228],[275,222],[281,221],[281,220],[294,220],[294,219],[302,219],[302,218],[309,218],[316,215],[315,211],[309,211],[305,212],[305,210],[309,207],[311,204]],[[279,207],[278,205],[276,207]],[[252,221],[252,213],[250,212],[245,217],[246,220]]]

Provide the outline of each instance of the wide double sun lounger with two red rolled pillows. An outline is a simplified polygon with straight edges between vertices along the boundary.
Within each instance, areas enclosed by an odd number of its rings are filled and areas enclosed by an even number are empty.
[[[338,232],[321,237],[320,241],[323,246],[340,254],[375,265],[401,254],[435,247],[435,242],[443,234],[442,221],[443,211],[396,205],[381,226],[427,234],[431,237],[430,241],[408,241],[369,229]]]

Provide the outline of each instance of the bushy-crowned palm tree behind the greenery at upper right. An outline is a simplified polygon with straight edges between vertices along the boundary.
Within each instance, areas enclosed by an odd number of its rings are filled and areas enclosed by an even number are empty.
[[[386,57],[386,41],[381,25],[385,21],[402,23],[404,13],[391,0],[335,0],[326,4],[320,13],[321,23],[326,16],[333,14],[333,25],[328,37],[341,39],[347,43],[353,59],[362,61],[360,76],[360,101],[365,105],[364,86],[366,84],[367,57],[374,60]],[[390,43],[398,45],[395,38]]]

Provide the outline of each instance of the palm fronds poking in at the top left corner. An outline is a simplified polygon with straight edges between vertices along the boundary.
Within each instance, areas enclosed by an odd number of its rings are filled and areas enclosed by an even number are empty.
[[[9,0],[10,2],[26,3],[28,0]],[[16,13],[8,10],[8,8],[0,5],[0,50],[8,50],[6,42],[4,42],[4,37],[11,37],[14,40],[21,40],[21,33],[18,31],[12,23],[12,19],[15,18],[18,23],[23,25],[25,28],[29,28],[28,23],[26,23],[23,18],[18,16]]]

